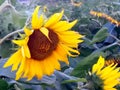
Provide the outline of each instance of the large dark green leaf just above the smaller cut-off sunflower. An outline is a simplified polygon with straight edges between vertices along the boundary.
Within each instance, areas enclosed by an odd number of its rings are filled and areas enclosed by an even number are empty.
[[[85,77],[86,72],[88,72],[88,70],[92,68],[93,64],[97,62],[100,55],[105,56],[105,53],[95,51],[89,56],[83,58],[71,74],[76,77]]]

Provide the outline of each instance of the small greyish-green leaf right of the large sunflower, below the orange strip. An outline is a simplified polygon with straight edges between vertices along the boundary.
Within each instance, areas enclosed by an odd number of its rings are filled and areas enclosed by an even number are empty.
[[[103,41],[108,36],[107,28],[101,28],[93,37],[91,44]]]

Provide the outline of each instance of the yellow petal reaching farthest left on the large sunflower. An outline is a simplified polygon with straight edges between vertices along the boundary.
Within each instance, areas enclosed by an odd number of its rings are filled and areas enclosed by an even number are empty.
[[[4,68],[12,65],[14,62],[17,60],[19,61],[21,59],[21,49],[19,49],[17,52],[15,52],[9,59],[8,61],[4,64]],[[19,57],[19,58],[18,58]]]

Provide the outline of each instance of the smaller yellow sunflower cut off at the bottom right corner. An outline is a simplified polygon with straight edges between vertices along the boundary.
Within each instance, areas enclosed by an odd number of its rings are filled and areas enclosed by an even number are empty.
[[[116,85],[119,84],[120,78],[120,68],[116,67],[117,64],[111,64],[105,67],[105,60],[103,57],[99,57],[99,60],[92,67],[91,76],[95,79],[92,79],[94,87],[97,90],[117,90]],[[97,81],[98,80],[98,81]]]

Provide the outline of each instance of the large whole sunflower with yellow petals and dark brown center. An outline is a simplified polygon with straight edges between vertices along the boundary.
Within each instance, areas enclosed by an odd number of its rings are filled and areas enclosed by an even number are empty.
[[[31,29],[24,28],[25,39],[13,40],[20,49],[4,65],[4,68],[12,65],[12,71],[17,70],[16,80],[51,75],[54,70],[60,70],[59,61],[69,64],[67,56],[74,56],[71,52],[79,54],[77,47],[82,35],[70,30],[77,20],[60,21],[63,10],[46,19],[38,16],[39,8],[37,6],[32,14]]]

